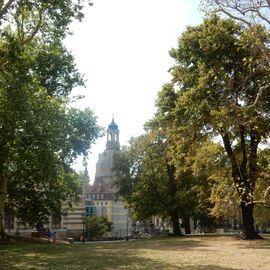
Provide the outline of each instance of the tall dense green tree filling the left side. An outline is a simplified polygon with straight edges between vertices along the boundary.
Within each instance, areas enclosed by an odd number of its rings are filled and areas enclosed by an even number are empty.
[[[70,109],[84,81],[62,39],[82,14],[60,2],[0,2],[1,237],[4,211],[34,225],[72,204],[80,192],[72,162],[101,135],[91,110]]]

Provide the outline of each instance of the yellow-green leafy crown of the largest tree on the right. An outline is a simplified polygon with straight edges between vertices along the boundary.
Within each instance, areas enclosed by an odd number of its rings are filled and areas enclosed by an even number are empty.
[[[178,92],[174,124],[204,136],[220,135],[233,163],[235,180],[239,169],[247,169],[247,151],[256,151],[262,136],[269,132],[268,118],[258,114],[259,109],[268,111],[264,99],[256,110],[253,107],[260,87],[268,83],[268,69],[261,65],[259,55],[252,55],[256,59],[252,69],[245,65],[244,59],[250,54],[248,44],[243,47],[245,36],[233,21],[213,17],[189,28],[179,40],[178,50],[171,52],[178,63],[172,75],[183,85]],[[186,77],[192,73],[197,79],[190,85]],[[268,99],[267,91],[263,96]],[[254,137],[255,144],[251,141]]]

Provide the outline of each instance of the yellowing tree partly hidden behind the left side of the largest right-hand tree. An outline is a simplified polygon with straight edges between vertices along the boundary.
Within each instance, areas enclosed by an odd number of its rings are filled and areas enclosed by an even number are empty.
[[[175,168],[174,177],[177,182],[180,216],[185,231],[188,233],[191,229],[190,217],[205,227],[214,224],[214,219],[209,212],[213,206],[210,202],[212,182],[208,181],[208,177],[214,167],[217,167],[216,160],[219,159],[220,147],[207,138],[195,144],[190,133],[173,132],[175,120],[173,111],[176,100],[177,92],[173,83],[164,84],[156,100],[157,112],[148,125],[152,130],[158,130],[159,133],[162,133],[163,138],[166,138],[166,155],[170,157],[169,162]],[[175,140],[177,140],[178,149],[175,149]],[[180,143],[182,141],[185,141],[185,144]],[[181,150],[180,145],[183,146]],[[207,224],[203,220],[207,221]]]

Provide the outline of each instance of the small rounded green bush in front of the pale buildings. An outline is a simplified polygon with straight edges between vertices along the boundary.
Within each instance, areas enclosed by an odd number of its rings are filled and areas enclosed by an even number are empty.
[[[86,229],[90,236],[100,237],[107,232],[112,231],[113,223],[107,217],[92,216],[86,217]]]

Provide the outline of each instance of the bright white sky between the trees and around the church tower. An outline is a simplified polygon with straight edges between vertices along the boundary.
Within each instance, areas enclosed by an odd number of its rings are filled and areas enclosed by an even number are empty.
[[[170,80],[168,70],[174,64],[168,52],[188,25],[202,22],[199,2],[93,0],[84,20],[72,24],[66,46],[86,79],[86,88],[73,92],[85,98],[74,106],[92,109],[105,129],[114,115],[121,145],[142,134],[144,123],[154,116],[158,91]],[[91,147],[90,182],[105,146],[106,136]],[[82,161],[74,168],[83,170]]]

